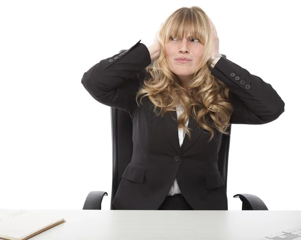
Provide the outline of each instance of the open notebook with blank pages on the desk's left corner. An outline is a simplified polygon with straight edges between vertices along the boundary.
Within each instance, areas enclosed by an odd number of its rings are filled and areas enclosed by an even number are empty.
[[[26,240],[63,222],[57,214],[0,209],[0,239]]]

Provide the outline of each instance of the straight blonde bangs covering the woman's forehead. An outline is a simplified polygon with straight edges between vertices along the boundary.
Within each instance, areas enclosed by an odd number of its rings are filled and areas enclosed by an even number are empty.
[[[182,11],[173,16],[166,29],[165,43],[170,38],[188,38],[199,39],[202,44],[205,42],[205,28],[202,20],[191,11]]]

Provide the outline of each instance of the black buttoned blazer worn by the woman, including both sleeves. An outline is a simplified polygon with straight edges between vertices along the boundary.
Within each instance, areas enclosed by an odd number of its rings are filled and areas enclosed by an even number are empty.
[[[188,203],[195,210],[227,210],[224,181],[218,170],[218,151],[222,134],[197,128],[190,116],[180,148],[177,113],[157,117],[149,99],[137,105],[136,92],[151,63],[146,46],[137,42],[121,54],[101,60],[84,73],[81,83],[98,102],[127,111],[133,121],[133,154],[116,195],[115,209],[157,210],[168,195],[175,178]],[[148,75],[147,75],[148,74]],[[260,77],[222,57],[211,74],[230,89],[234,107],[230,123],[264,124],[284,112],[284,102]]]

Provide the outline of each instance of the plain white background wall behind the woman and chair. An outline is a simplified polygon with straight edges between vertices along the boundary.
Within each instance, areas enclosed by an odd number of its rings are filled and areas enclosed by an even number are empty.
[[[139,40],[151,45],[176,9],[199,6],[216,27],[220,53],[285,102],[274,122],[232,125],[229,210],[241,209],[237,193],[259,196],[270,210],[301,210],[296,2],[2,2],[0,207],[82,209],[89,191],[104,190],[102,207],[109,209],[110,108],[81,78]]]

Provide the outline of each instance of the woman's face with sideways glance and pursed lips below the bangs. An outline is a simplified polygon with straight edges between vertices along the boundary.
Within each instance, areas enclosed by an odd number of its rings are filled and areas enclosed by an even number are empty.
[[[184,86],[187,86],[201,62],[204,45],[200,40],[191,37],[171,38],[165,48],[169,69],[179,77]],[[178,58],[187,58],[189,61],[178,61]]]

